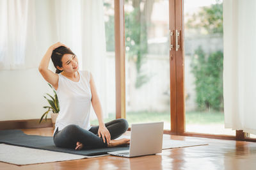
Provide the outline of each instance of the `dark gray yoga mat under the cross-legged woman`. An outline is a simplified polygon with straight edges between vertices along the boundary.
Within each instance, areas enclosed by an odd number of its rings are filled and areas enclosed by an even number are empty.
[[[40,150],[59,151],[64,153],[72,153],[76,155],[103,155],[108,151],[129,150],[128,147],[115,148],[85,148],[84,150],[75,150],[69,148],[58,148],[53,143],[53,137],[41,135],[27,135],[22,130],[0,130],[0,143],[12,144],[15,146],[24,146],[27,148],[35,148]]]

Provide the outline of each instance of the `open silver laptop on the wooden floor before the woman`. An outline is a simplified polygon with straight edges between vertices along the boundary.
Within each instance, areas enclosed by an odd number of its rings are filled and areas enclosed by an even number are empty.
[[[162,153],[163,128],[163,121],[132,124],[130,149],[108,153],[120,157],[138,157]]]

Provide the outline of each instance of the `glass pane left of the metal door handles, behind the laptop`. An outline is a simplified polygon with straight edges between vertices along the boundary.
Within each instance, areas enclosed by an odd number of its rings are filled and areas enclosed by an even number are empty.
[[[169,1],[124,3],[126,119],[170,130]]]

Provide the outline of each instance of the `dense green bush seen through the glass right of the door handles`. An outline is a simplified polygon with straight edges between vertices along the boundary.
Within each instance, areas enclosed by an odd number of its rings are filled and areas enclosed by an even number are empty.
[[[195,75],[198,109],[223,111],[223,52],[212,52],[207,56],[198,47],[192,57],[191,68]]]

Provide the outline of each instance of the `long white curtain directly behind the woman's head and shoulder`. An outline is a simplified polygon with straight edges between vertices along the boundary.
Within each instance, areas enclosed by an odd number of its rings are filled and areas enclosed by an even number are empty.
[[[55,10],[58,41],[68,45],[77,55],[80,70],[92,72],[106,118],[108,108],[103,1],[55,0]],[[92,116],[95,115],[92,108],[91,112]]]

